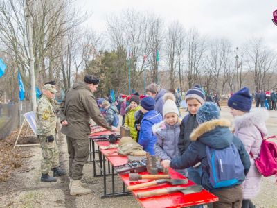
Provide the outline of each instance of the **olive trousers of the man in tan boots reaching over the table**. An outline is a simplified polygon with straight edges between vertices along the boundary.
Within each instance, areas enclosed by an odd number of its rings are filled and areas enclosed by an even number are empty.
[[[89,158],[89,139],[74,139],[66,136],[69,152],[69,177],[82,179],[82,168]]]

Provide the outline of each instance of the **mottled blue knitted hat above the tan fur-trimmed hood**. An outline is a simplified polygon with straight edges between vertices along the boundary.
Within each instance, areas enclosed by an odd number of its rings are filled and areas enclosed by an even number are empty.
[[[196,121],[200,123],[204,123],[206,121],[211,121],[213,119],[220,118],[220,109],[213,102],[206,102],[204,105],[199,107],[199,110],[196,114]]]

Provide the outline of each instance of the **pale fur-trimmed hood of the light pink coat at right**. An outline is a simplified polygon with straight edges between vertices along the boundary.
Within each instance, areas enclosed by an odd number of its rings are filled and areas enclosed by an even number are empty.
[[[267,127],[265,121],[269,118],[269,113],[265,108],[252,108],[249,113],[237,116],[234,119],[235,129],[256,126],[263,135],[267,135]]]

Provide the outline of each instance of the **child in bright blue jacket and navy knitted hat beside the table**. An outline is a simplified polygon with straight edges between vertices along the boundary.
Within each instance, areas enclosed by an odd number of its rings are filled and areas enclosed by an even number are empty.
[[[141,120],[141,131],[139,132],[139,144],[143,146],[143,150],[155,155],[154,144],[157,137],[152,132],[152,126],[161,122],[161,114],[159,114],[155,107],[155,101],[152,97],[145,97],[141,100],[141,112],[144,114]]]

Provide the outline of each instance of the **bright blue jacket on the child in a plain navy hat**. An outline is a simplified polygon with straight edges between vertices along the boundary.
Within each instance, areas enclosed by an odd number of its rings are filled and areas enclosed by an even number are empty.
[[[149,152],[150,155],[155,155],[154,144],[157,137],[152,132],[152,126],[155,123],[161,122],[161,114],[156,110],[146,112],[141,120],[141,131],[139,132],[139,144],[143,146],[143,150]]]

